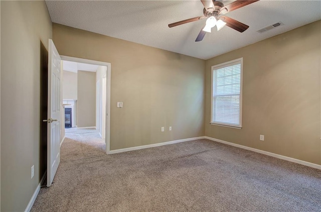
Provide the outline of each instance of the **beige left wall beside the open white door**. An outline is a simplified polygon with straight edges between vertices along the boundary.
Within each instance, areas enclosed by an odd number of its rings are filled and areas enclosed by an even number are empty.
[[[0,4],[1,211],[24,211],[40,181],[40,43],[48,50],[52,24],[45,2]]]

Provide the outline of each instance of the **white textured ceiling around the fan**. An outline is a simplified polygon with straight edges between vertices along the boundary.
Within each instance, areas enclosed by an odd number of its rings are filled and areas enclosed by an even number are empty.
[[[225,5],[232,1],[222,1]],[[195,42],[206,20],[169,28],[203,15],[201,1],[46,1],[52,22],[201,59],[209,59],[321,19],[321,1],[261,0],[226,16],[248,26],[244,33],[216,28]],[[256,31],[282,22],[263,34]]]

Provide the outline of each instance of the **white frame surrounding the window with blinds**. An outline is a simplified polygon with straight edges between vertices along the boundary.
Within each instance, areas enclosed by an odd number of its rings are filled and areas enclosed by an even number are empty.
[[[240,78],[240,124],[239,125],[233,125],[233,124],[224,124],[224,123],[218,123],[218,122],[213,122],[213,73],[214,69],[218,69],[221,66],[226,66],[228,64],[240,62],[241,64],[241,78]],[[210,124],[212,125],[217,125],[217,126],[223,126],[223,127],[231,127],[231,128],[236,128],[236,129],[242,129],[242,91],[243,91],[243,58],[239,58],[236,60],[228,61],[226,63],[221,63],[215,66],[212,66],[212,71],[211,71],[211,122]]]

